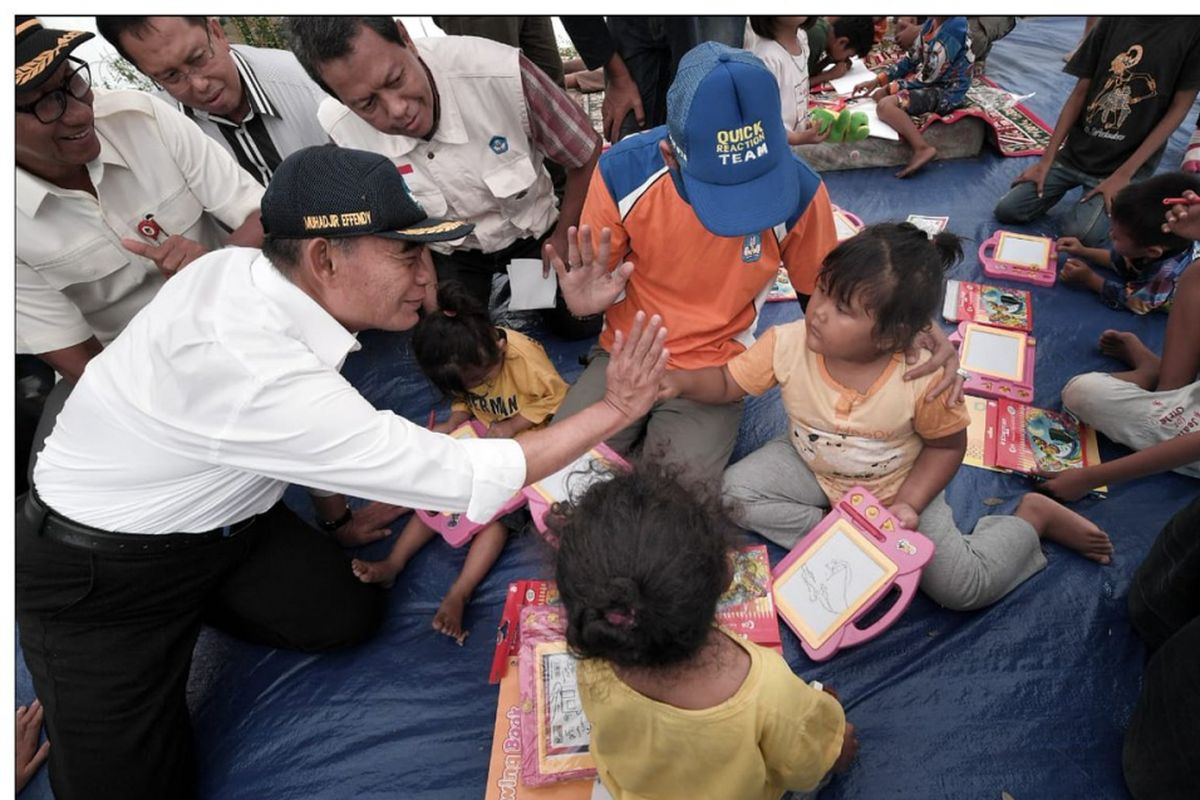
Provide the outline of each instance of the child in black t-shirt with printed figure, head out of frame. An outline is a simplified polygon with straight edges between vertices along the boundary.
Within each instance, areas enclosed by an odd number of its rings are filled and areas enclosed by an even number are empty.
[[[1050,144],[1016,176],[995,213],[1006,224],[1031,222],[1082,186],[1082,200],[1067,213],[1061,233],[1098,247],[1109,237],[1108,212],[1117,192],[1154,172],[1196,97],[1200,18],[1104,17],[1066,71],[1079,83]]]

